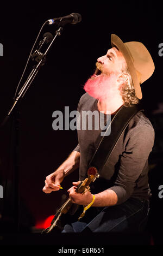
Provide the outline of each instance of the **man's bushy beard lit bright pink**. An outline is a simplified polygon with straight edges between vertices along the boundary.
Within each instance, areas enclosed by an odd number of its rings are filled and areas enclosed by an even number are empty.
[[[114,88],[116,83],[116,75],[92,75],[84,85],[84,90],[95,99],[104,100],[109,97],[109,92]]]

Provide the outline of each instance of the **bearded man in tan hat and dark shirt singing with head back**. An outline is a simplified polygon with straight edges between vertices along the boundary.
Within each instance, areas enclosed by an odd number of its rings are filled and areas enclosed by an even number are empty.
[[[122,105],[131,108],[142,98],[140,85],[154,72],[154,63],[146,47],[137,41],[123,43],[111,35],[112,48],[99,57],[95,74],[84,85],[78,111],[108,111],[111,118]],[[60,189],[65,176],[79,168],[79,180],[87,176],[89,162],[98,147],[101,129],[78,130],[78,146],[45,180],[43,192]],[[62,232],[139,231],[147,218],[149,197],[148,157],[154,144],[154,129],[143,111],[131,118],[99,178],[85,193],[77,193],[80,181],[68,189],[72,203],[85,207],[85,216],[67,223]]]

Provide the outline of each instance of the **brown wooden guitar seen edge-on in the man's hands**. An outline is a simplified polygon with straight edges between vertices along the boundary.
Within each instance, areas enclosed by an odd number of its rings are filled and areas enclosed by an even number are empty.
[[[76,188],[77,193],[84,193],[85,189],[89,187],[91,182],[94,182],[97,177],[99,177],[96,168],[90,167],[87,171],[88,177],[85,178],[84,181],[80,182],[78,187]],[[73,204],[70,198],[60,207],[60,209],[55,214],[51,225],[42,231],[42,234],[51,233],[52,231],[55,233],[61,232],[64,229],[64,225],[66,224],[66,217],[68,215],[74,215],[74,213],[78,210],[78,205]]]

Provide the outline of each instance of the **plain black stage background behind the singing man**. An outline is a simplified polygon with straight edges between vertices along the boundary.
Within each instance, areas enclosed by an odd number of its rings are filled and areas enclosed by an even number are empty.
[[[111,47],[111,33],[125,41],[141,41],[153,57],[155,72],[142,85],[146,115],[155,128],[156,139],[149,159],[149,183],[152,189],[151,215],[148,230],[155,243],[161,243],[163,198],[158,197],[162,175],[162,115],[154,114],[162,102],[162,61],[159,47],[163,43],[162,6],[156,1],[23,1],[1,3],[0,43],[4,56],[0,57],[0,120],[11,108],[14,93],[21,78],[29,52],[43,23],[54,17],[80,13],[82,22],[67,25],[61,37],[54,42],[45,66],[41,67],[34,82],[23,98],[20,110],[19,164],[21,227],[24,230],[39,227],[61,204],[67,189],[78,174],[71,174],[62,183],[58,194],[42,192],[45,177],[66,159],[77,145],[77,132],[52,129],[52,113],[64,111],[65,106],[76,110],[84,93],[83,85],[95,69],[95,63]],[[45,32],[55,35],[56,25],[46,25]],[[27,74],[34,63],[29,62]],[[22,84],[21,84],[22,85]],[[1,183],[7,193],[1,199],[5,209],[4,223],[12,223],[15,200],[15,172],[13,170],[13,135],[11,119],[1,128],[0,161]],[[17,177],[16,177],[17,179]],[[7,181],[7,182],[6,182]],[[4,191],[5,192],[5,191]],[[4,207],[5,206],[5,207]],[[12,227],[12,225],[9,227]],[[12,230],[11,230],[12,232]]]

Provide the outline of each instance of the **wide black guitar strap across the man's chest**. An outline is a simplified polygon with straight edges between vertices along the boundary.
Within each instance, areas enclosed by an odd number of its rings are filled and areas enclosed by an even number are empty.
[[[142,111],[142,105],[133,105],[131,107],[126,107],[124,105],[121,106],[120,109],[116,112],[115,116],[112,118],[112,121],[107,124],[106,132],[110,129],[110,135],[102,136],[99,145],[93,154],[93,157],[90,161],[89,168],[91,166],[95,167],[97,171],[101,171],[106,163],[106,161],[110,158],[112,151],[114,150],[118,140],[120,139],[123,131],[128,126],[131,118],[137,114],[137,112]],[[101,136],[101,135],[99,135]]]

